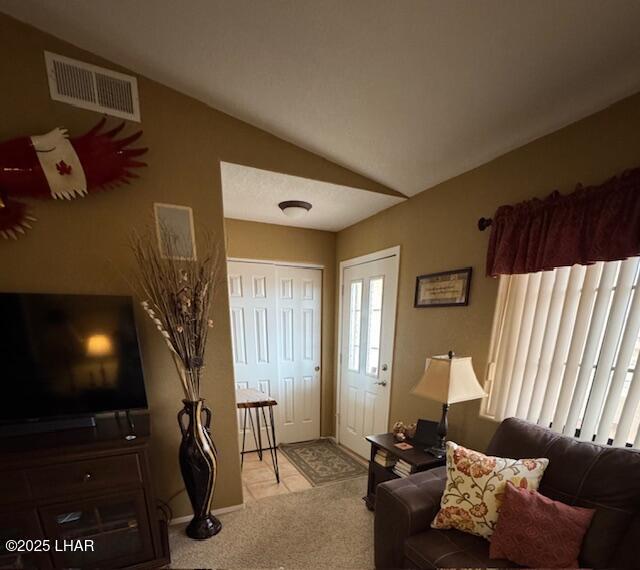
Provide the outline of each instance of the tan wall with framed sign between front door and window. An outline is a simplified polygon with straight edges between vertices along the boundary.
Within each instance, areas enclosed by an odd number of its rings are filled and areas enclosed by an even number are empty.
[[[338,234],[338,261],[400,245],[400,284],[391,422],[437,419],[438,404],[411,396],[425,357],[471,355],[484,378],[497,280],[484,276],[489,232],[476,222],[505,203],[570,192],[640,165],[640,95],[431,188]],[[415,278],[472,266],[470,305],[414,309]],[[450,434],[484,448],[496,424],[478,418],[479,403],[454,405]]]

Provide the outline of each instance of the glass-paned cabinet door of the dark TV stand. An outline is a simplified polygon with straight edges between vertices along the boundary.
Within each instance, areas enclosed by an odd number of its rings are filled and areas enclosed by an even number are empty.
[[[120,567],[153,558],[144,491],[129,491],[41,511],[55,542],[56,566]]]

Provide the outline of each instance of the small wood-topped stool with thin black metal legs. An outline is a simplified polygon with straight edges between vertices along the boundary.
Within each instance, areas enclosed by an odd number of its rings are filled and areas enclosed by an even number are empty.
[[[247,453],[257,453],[258,459],[262,461],[262,452],[268,451],[271,454],[271,464],[276,476],[276,482],[280,483],[280,467],[278,467],[278,442],[276,441],[276,424],[273,419],[273,407],[278,402],[274,398],[252,388],[239,388],[236,390],[236,407],[243,412],[242,416],[242,449],[240,451],[240,470],[244,467],[244,456]],[[264,409],[269,410],[269,420]],[[255,421],[251,415],[251,410],[255,412]],[[262,427],[260,426],[260,415],[262,413],[262,423],[267,435],[268,447],[262,445]],[[255,450],[246,450],[247,441],[247,417],[251,425],[253,441],[256,444]]]

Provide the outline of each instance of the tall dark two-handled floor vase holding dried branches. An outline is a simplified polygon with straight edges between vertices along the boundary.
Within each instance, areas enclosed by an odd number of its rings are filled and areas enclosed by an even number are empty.
[[[218,534],[222,528],[222,523],[211,514],[218,474],[218,455],[209,431],[211,410],[204,405],[203,399],[182,402],[184,408],[178,413],[182,431],[180,470],[193,508],[193,519],[186,532],[190,538],[204,540]]]

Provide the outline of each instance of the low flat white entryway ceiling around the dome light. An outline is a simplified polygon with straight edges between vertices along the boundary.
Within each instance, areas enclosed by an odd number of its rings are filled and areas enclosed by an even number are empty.
[[[228,162],[220,171],[227,218],[337,232],[404,200]],[[278,208],[285,200],[304,200],[313,207],[302,218],[291,219]]]

